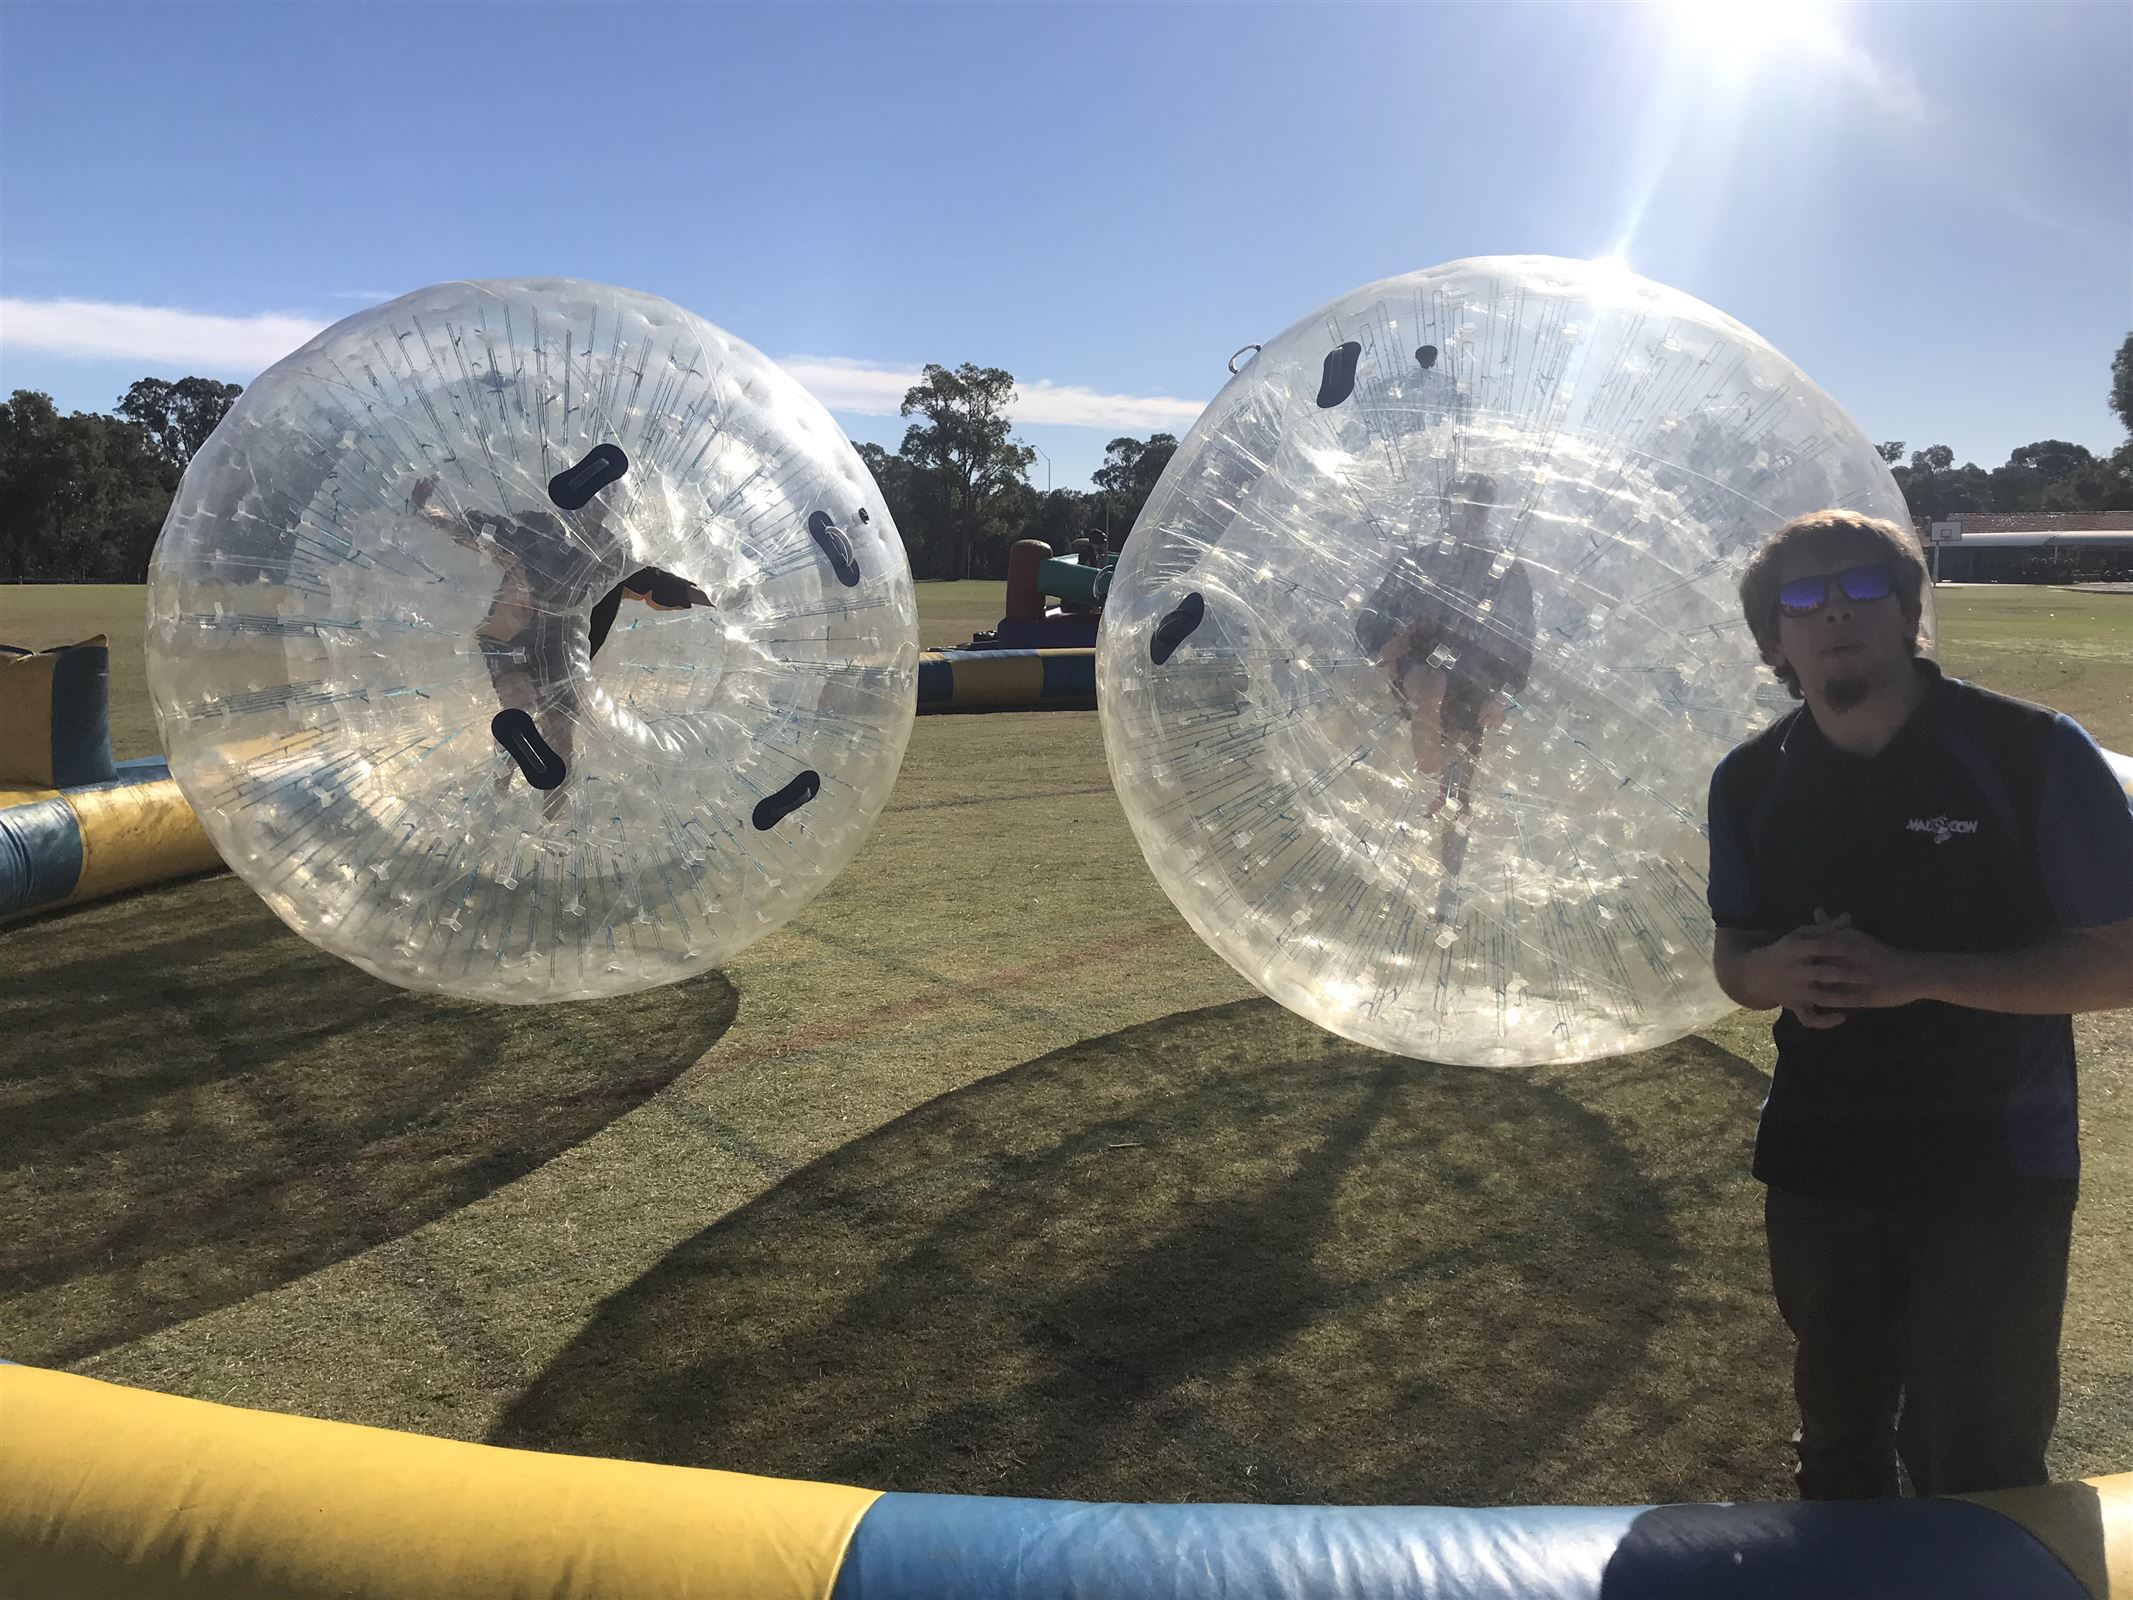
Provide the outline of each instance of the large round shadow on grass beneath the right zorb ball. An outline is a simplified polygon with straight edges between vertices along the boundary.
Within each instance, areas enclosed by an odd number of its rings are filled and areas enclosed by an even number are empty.
[[[1636,1372],[1679,1254],[1568,1094],[1248,1001],[791,1175],[612,1297],[493,1440],[889,1489],[1487,1504]]]

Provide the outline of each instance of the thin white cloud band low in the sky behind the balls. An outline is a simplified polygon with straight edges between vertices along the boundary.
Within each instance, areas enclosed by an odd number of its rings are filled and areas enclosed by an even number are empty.
[[[346,290],[354,294],[356,290]],[[207,316],[166,305],[0,299],[0,346],[96,361],[147,361],[252,378],[305,343],[333,318],[260,311]],[[787,356],[779,363],[832,412],[896,416],[924,373],[851,356]],[[1015,386],[1015,422],[1139,431],[1184,431],[1203,401],[1175,395],[1105,395],[1047,380]]]

